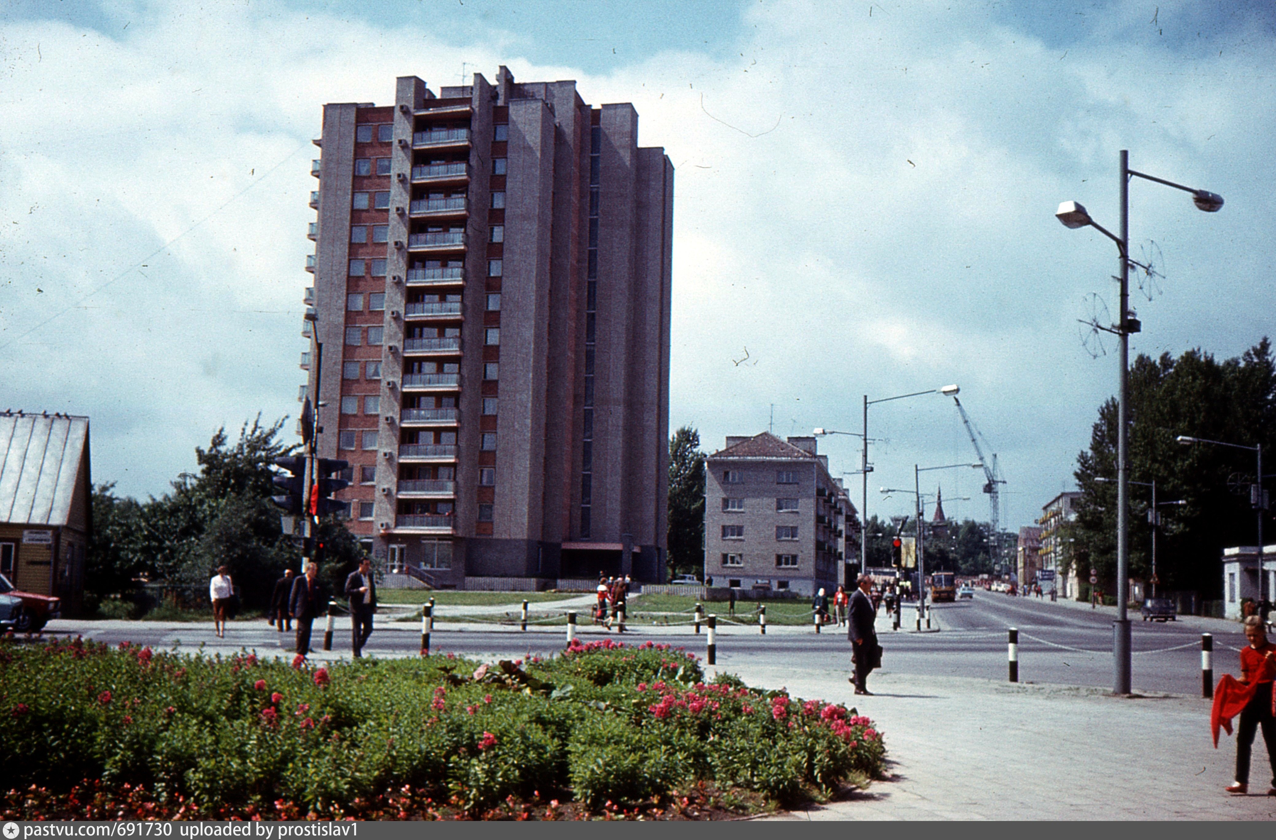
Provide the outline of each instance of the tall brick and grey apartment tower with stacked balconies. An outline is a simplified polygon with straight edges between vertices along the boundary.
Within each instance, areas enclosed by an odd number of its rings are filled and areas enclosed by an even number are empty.
[[[674,170],[637,140],[632,105],[504,66],[324,106],[305,393],[392,568],[664,577]]]

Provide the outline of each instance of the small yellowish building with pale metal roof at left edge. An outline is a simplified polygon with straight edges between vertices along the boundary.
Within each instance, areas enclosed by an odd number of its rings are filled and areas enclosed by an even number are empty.
[[[0,414],[0,573],[79,611],[93,517],[88,417]]]

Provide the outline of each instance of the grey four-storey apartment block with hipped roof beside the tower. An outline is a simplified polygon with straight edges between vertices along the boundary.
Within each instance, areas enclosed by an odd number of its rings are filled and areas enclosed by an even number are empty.
[[[828,595],[859,572],[857,520],[815,438],[729,437],[706,458],[704,574],[713,586]]]

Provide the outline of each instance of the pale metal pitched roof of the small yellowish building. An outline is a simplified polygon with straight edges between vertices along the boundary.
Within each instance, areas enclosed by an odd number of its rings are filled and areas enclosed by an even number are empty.
[[[88,417],[0,414],[0,522],[65,525],[87,451]]]

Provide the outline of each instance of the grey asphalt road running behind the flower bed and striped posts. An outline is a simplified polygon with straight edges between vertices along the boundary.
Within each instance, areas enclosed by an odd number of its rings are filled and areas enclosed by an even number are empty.
[[[1111,610],[1090,610],[1073,604],[1051,604],[1046,600],[1012,597],[994,592],[976,592],[972,601],[937,604],[931,626],[938,632],[910,632],[915,610],[903,609],[903,628],[888,629],[879,619],[879,638],[886,649],[883,674],[934,674],[944,677],[1007,678],[1007,628],[1020,631],[1020,680],[1110,688],[1113,684]],[[1142,622],[1132,613],[1133,674],[1136,692],[1165,692],[1199,696],[1201,633],[1215,634],[1215,674],[1236,673],[1236,650],[1244,643],[1238,624],[1215,619],[1185,617],[1178,622]],[[703,654],[706,636],[694,636],[689,628],[652,628],[629,626],[627,642],[647,638],[674,643]],[[323,619],[315,622],[313,645],[323,641]],[[259,652],[291,651],[291,634],[281,634],[262,622],[231,623],[227,638],[217,640],[212,622],[161,624],[149,622],[73,622],[56,620],[52,634],[83,633],[87,638],[117,643],[131,641],[170,649],[230,652],[240,647]],[[333,638],[333,655],[348,655],[348,629],[339,628]],[[601,628],[581,627],[586,640],[607,636]],[[615,634],[611,634],[615,637]],[[489,631],[481,626],[440,624],[431,640],[434,651],[450,651],[482,659],[519,657],[528,654],[546,656],[563,647],[563,629],[540,629],[521,633],[517,629]],[[411,655],[420,649],[420,627],[394,623],[378,617],[376,632],[369,640],[366,654]],[[812,628],[772,627],[766,636],[752,627],[723,626],[717,636],[717,663],[730,669],[736,664],[776,666],[795,675],[827,673],[842,675],[850,670],[850,654],[845,632],[826,628],[817,634]],[[870,680],[872,687],[872,680]]]

